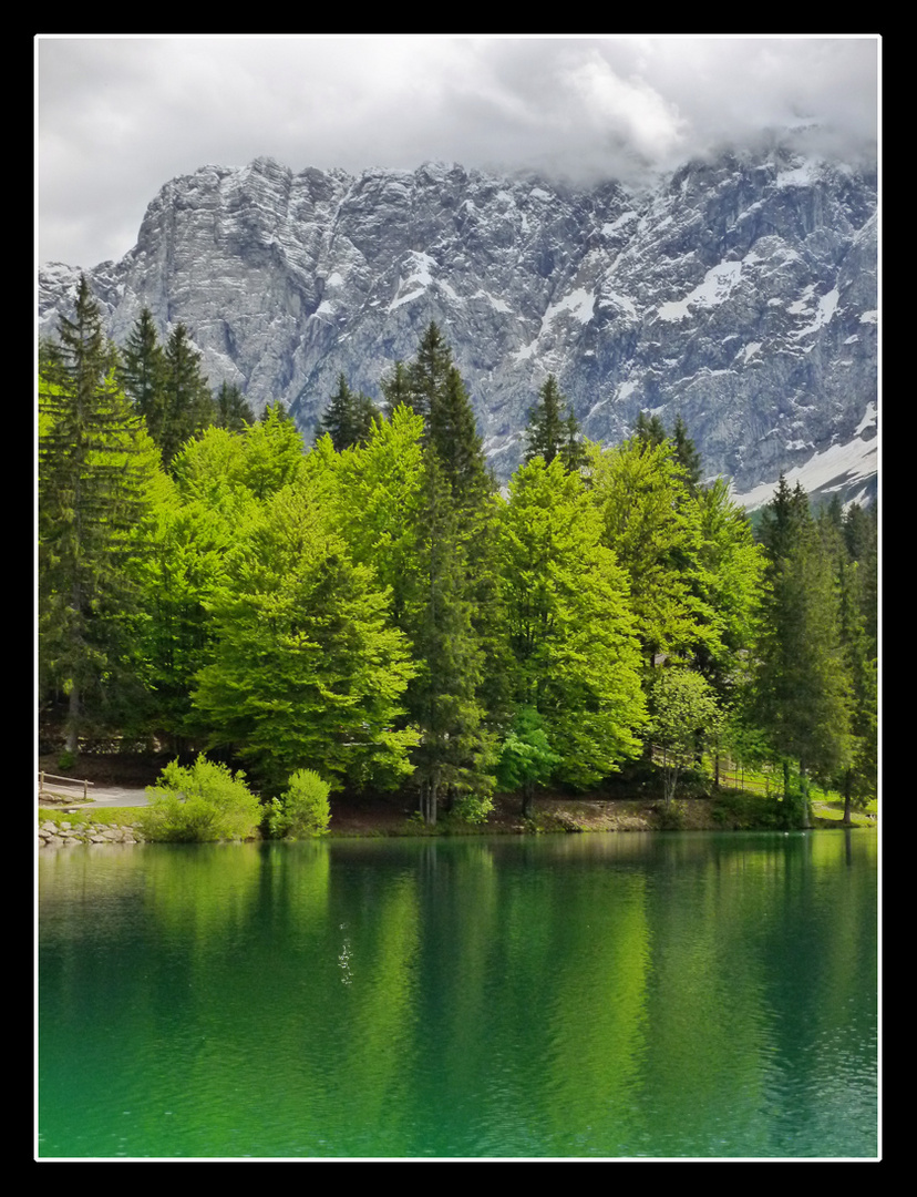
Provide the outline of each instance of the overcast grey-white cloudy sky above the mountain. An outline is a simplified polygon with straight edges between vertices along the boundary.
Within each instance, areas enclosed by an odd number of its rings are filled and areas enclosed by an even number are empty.
[[[875,156],[878,38],[39,37],[39,262],[135,243],[177,175],[262,154],[636,180],[768,128]]]

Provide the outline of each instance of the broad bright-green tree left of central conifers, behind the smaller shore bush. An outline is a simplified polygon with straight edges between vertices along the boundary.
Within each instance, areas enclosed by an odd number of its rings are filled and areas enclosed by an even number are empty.
[[[252,760],[269,786],[304,762],[332,784],[409,774],[406,642],[373,571],[350,560],[304,485],[265,504],[226,569],[214,660],[194,694],[210,742]]]

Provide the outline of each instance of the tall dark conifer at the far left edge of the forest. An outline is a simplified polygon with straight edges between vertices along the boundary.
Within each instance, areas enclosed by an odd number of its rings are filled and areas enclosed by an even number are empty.
[[[154,467],[115,360],[82,277],[39,379],[39,668],[45,687],[67,695],[69,752],[90,723],[123,715],[135,678],[127,563]]]

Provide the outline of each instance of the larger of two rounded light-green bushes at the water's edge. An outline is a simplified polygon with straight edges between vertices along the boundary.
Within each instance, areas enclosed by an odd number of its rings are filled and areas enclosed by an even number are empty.
[[[145,839],[251,839],[261,822],[261,802],[245,784],[245,774],[233,774],[203,754],[189,767],[171,761],[147,794],[149,806],[137,819]]]

